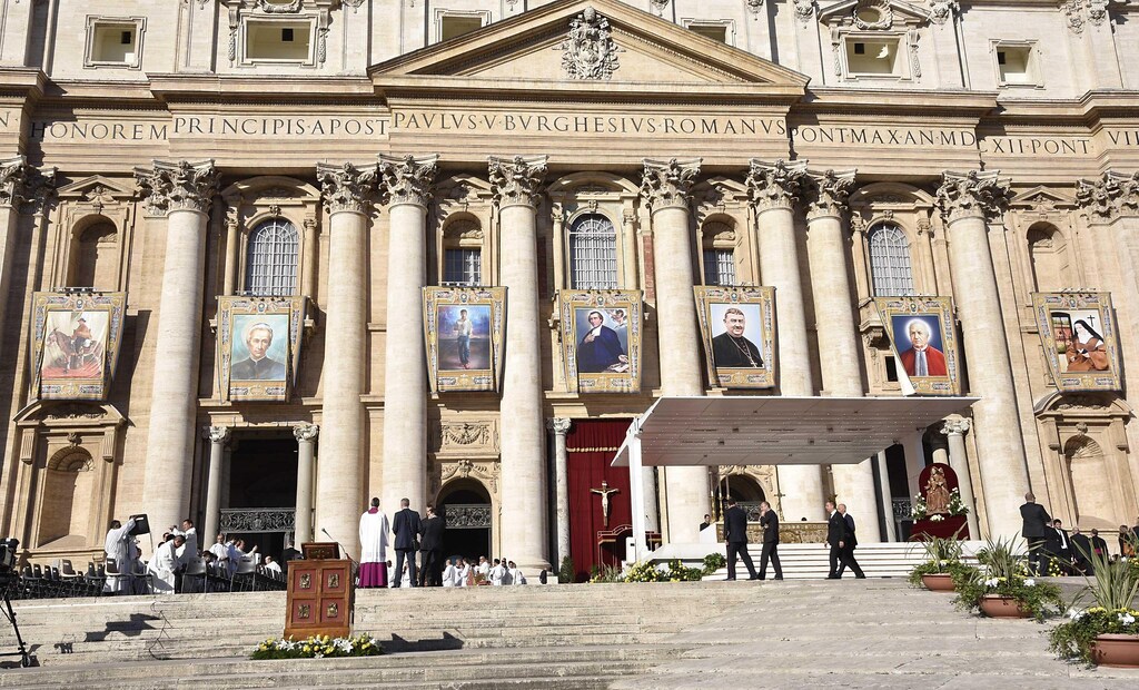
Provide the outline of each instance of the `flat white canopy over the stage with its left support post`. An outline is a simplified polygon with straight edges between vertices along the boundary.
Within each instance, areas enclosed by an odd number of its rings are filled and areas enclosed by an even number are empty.
[[[636,554],[647,553],[642,466],[854,464],[977,398],[664,397],[633,420],[612,466],[629,468]]]

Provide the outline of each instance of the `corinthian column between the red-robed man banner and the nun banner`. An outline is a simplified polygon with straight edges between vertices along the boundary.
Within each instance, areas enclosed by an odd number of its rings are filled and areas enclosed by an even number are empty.
[[[968,363],[981,486],[993,536],[1021,530],[1019,505],[1029,490],[1029,469],[1017,415],[1013,366],[1001,311],[997,275],[989,252],[988,217],[999,212],[1008,182],[997,171],[945,172],[937,203],[947,219],[953,297],[961,318]]]

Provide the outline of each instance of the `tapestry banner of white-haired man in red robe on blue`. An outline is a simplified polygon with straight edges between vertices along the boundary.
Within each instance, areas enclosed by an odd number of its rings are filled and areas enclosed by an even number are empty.
[[[894,351],[903,396],[960,392],[953,302],[948,297],[874,300]]]

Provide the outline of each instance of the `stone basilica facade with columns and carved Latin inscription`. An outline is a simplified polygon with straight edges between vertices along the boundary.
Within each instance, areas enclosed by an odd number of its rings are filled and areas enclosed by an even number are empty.
[[[658,470],[650,527],[695,542],[716,497],[810,521],[837,495],[861,541],[902,538],[894,501],[933,461],[974,533],[1018,531],[1030,489],[1066,525],[1131,523],[1137,11],[0,0],[0,533],[83,561],[147,513],[355,551],[367,498],[409,497],[451,509],[456,553],[556,563],[600,535],[601,422],[659,396],[902,395],[885,295],[952,298],[967,416],[860,464]],[[491,390],[428,385],[444,285],[506,289]],[[699,285],[775,287],[773,389],[710,374]],[[570,381],[571,290],[639,292],[633,391]],[[1118,385],[1057,388],[1032,295],[1067,292],[1111,294]],[[43,293],[125,295],[101,392],[47,395]],[[221,306],[267,295],[304,306],[289,383],[239,399]]]

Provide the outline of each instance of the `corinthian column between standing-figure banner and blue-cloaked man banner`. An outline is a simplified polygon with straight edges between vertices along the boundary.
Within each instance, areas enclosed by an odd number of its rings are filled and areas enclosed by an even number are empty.
[[[499,274],[506,287],[502,378],[502,544],[519,566],[549,568],[546,519],[546,435],[538,316],[538,221],[546,156],[490,159],[499,209]]]

